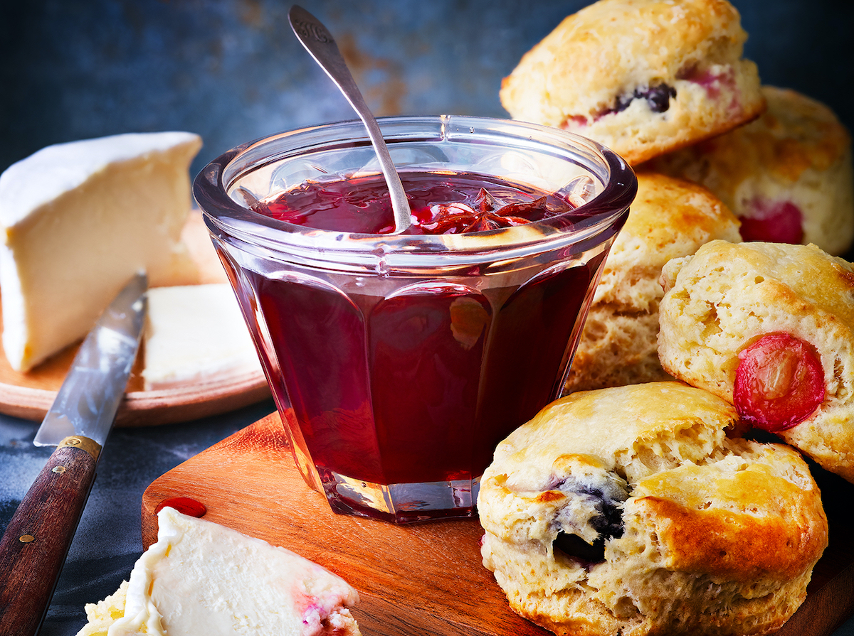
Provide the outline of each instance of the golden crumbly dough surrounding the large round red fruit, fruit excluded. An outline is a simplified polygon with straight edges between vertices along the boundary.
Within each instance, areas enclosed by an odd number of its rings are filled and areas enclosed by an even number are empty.
[[[785,332],[812,345],[824,402],[778,433],[854,482],[854,268],[816,246],[711,241],[664,266],[658,355],[674,378],[733,402],[739,352]]]

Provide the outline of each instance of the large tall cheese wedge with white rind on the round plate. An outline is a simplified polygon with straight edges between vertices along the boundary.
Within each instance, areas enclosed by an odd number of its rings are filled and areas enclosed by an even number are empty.
[[[180,241],[190,211],[187,132],[45,147],[0,175],[3,349],[26,371],[81,338],[137,271],[196,282]]]

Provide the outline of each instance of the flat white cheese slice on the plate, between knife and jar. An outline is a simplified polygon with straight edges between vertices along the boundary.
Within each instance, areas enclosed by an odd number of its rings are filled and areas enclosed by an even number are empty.
[[[143,338],[145,390],[263,373],[228,283],[150,289]]]

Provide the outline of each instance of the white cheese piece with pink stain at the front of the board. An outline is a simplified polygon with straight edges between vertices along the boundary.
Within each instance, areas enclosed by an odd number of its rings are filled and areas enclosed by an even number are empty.
[[[306,558],[173,508],[158,514],[157,541],[126,586],[123,616],[87,605],[108,636],[357,636],[348,607],[359,594]],[[120,589],[120,593],[122,590]],[[120,602],[121,594],[113,599]],[[94,631],[95,629],[99,631]]]

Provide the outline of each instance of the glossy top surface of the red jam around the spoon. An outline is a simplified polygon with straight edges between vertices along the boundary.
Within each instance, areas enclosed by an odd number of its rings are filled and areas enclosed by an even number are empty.
[[[483,232],[573,209],[559,195],[475,173],[403,172],[401,182],[412,211],[406,234]],[[360,234],[395,231],[389,190],[381,175],[307,181],[253,209],[309,228]]]

